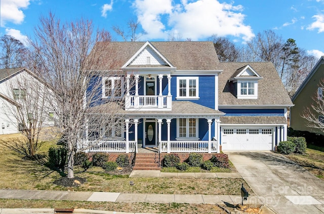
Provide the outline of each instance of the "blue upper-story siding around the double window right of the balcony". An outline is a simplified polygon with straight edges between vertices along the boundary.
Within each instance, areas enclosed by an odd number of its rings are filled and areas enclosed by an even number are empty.
[[[171,78],[172,100],[177,97],[177,77]],[[215,76],[199,76],[199,99],[187,101],[215,109]]]

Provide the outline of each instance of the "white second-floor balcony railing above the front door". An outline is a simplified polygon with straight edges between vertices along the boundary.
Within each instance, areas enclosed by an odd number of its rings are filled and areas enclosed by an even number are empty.
[[[170,110],[172,109],[172,96],[126,96],[125,110]]]

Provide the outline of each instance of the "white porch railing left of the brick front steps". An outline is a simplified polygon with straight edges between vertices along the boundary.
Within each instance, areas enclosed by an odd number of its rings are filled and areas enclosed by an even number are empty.
[[[136,152],[135,141],[88,141],[89,152]]]

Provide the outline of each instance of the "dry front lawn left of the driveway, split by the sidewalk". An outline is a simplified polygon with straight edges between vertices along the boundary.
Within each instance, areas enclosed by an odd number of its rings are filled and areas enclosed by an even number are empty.
[[[0,136],[0,142],[9,142],[21,135]],[[229,194],[240,195],[243,183],[251,195],[254,195],[248,184],[242,179],[207,178],[129,178],[126,176],[109,175],[100,167],[92,167],[86,172],[81,167],[75,167],[74,176],[87,179],[79,187],[63,187],[53,184],[61,178],[60,172],[46,166],[48,149],[55,142],[46,142],[38,151],[45,158],[38,160],[24,159],[0,143],[0,189],[31,189],[31,190],[69,190],[69,191],[105,191],[120,193],[147,194]],[[198,170],[191,168],[192,172]],[[199,169],[200,170],[200,169]],[[214,172],[224,172],[224,169],[213,169]],[[133,181],[134,185],[129,185]],[[70,201],[38,201],[0,199],[0,207],[79,207],[88,209],[104,209],[131,212],[163,212],[163,213],[221,213],[216,205],[211,204],[152,204],[152,203],[103,203],[103,202],[70,202]],[[206,211],[207,210],[207,211]],[[209,211],[208,211],[209,210]]]

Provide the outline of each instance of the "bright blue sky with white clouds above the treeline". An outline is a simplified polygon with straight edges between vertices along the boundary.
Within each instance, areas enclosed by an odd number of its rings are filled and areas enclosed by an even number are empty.
[[[140,41],[201,41],[217,35],[241,45],[272,30],[284,40],[295,39],[309,55],[324,55],[324,0],[0,0],[0,6],[0,36],[24,44],[40,17],[52,12],[61,21],[91,19],[116,41],[123,38],[112,27],[127,32],[133,19],[139,21],[137,32],[146,32]]]

